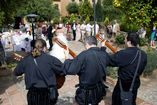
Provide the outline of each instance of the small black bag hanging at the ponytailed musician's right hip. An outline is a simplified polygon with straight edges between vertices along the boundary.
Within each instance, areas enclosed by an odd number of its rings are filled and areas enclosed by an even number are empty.
[[[54,103],[57,101],[57,99],[58,99],[57,87],[49,88],[49,97],[50,97],[50,101],[52,101]]]

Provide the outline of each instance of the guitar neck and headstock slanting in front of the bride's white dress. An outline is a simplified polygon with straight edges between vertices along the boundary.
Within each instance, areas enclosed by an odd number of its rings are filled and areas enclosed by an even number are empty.
[[[65,50],[68,48],[61,40],[59,40],[58,38],[54,38],[54,41],[62,48],[64,48]],[[69,54],[75,58],[77,55],[70,49],[68,48],[69,50]]]

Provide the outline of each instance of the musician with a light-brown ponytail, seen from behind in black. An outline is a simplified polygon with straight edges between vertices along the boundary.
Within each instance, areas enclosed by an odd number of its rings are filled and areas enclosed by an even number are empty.
[[[57,101],[50,101],[47,84],[56,88],[56,75],[62,73],[63,64],[57,58],[45,54],[45,51],[46,42],[42,39],[36,40],[32,55],[24,57],[14,70],[16,76],[25,74],[26,89],[29,90],[28,105],[54,105]]]

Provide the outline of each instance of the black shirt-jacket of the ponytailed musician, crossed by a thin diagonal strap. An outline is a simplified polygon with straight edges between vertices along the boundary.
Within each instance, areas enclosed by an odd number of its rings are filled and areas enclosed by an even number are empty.
[[[43,52],[36,58],[36,61],[49,86],[56,85],[56,75],[62,73],[63,64],[57,58]],[[14,70],[14,75],[22,74],[25,74],[26,89],[47,87],[31,55],[22,59]]]

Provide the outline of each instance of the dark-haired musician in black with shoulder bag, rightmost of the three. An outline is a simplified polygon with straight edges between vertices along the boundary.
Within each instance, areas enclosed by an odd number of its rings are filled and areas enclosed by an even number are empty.
[[[136,105],[136,97],[137,91],[140,87],[140,75],[144,71],[144,68],[147,64],[147,55],[144,51],[137,48],[137,44],[139,43],[139,35],[132,32],[126,36],[125,43],[127,48],[125,50],[118,51],[117,53],[110,55],[110,66],[119,67],[118,69],[118,82],[114,88],[112,94],[112,105],[121,105],[120,99],[120,85],[119,79],[122,83],[122,88],[124,91],[129,91],[130,85],[132,83],[135,70],[137,67],[137,62],[139,58],[139,54],[136,56],[137,51],[141,51],[141,60],[139,69],[137,72],[137,76],[135,79],[135,83],[133,86],[133,103],[132,105]]]

